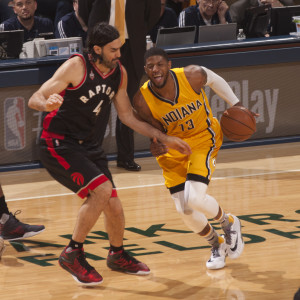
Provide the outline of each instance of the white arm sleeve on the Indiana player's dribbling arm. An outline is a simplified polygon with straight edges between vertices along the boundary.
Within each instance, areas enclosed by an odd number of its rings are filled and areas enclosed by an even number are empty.
[[[230,106],[233,106],[239,102],[239,99],[232,91],[229,84],[218,74],[210,69],[201,67],[207,74],[207,81],[205,85],[208,85],[218,96],[224,99]]]

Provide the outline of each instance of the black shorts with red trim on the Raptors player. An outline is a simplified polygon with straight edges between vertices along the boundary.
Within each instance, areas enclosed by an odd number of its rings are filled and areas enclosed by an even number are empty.
[[[41,138],[40,159],[49,174],[79,197],[85,198],[89,190],[110,180],[112,197],[117,191],[108,169],[102,148],[73,139]]]

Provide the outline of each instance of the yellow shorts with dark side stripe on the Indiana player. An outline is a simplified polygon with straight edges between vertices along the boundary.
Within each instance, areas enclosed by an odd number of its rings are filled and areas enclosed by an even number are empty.
[[[222,146],[223,133],[217,119],[213,119],[211,127],[205,132],[184,139],[192,148],[191,155],[184,155],[170,149],[165,155],[157,157],[163,170],[165,185],[176,192],[182,190],[187,179],[209,183],[216,167],[216,158]]]

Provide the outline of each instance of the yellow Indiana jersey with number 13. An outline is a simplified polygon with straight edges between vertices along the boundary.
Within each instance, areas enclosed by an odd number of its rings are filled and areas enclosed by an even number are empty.
[[[153,117],[162,123],[168,135],[187,139],[203,133],[213,122],[204,91],[198,94],[192,89],[183,68],[171,69],[169,76],[175,83],[174,101],[155,93],[149,81],[140,89]]]

